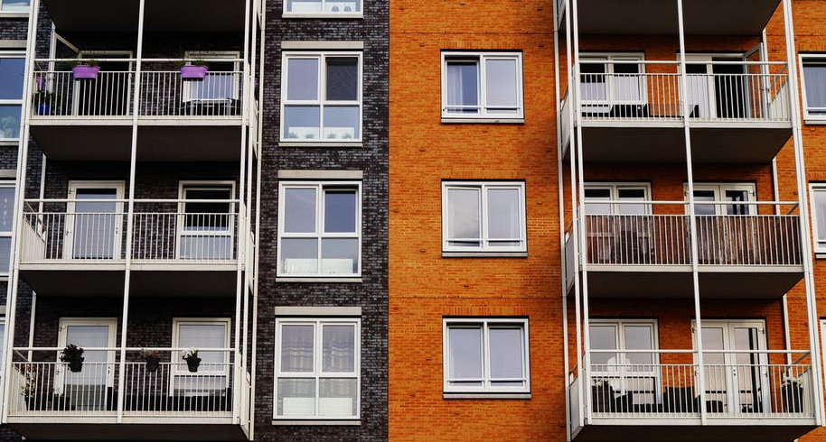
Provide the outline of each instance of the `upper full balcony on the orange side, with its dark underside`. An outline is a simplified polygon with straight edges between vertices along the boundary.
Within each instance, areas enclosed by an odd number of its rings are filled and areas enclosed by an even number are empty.
[[[685,161],[683,129],[688,103],[695,162],[772,161],[792,135],[788,73],[784,63],[690,63],[688,92],[671,61],[581,60],[579,75],[583,159],[594,162]],[[737,71],[741,73],[720,73]],[[633,73],[620,73],[620,72]],[[566,158],[572,97],[562,103]],[[576,120],[575,120],[576,124]],[[652,148],[656,146],[656,148]]]

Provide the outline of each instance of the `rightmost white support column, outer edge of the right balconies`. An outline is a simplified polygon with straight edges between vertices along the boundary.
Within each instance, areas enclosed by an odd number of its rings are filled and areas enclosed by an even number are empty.
[[[806,165],[803,159],[803,131],[801,130],[800,96],[797,78],[797,63],[794,46],[794,24],[791,0],[783,0],[784,38],[786,41],[786,63],[789,72],[789,97],[792,115],[792,140],[794,146],[794,169],[797,178],[797,201],[800,210],[801,253],[803,253],[803,281],[806,287],[806,314],[809,323],[809,350],[812,359],[812,390],[814,393],[814,415],[818,425],[823,425],[823,388],[821,378],[820,318],[814,293],[814,273],[812,271],[812,236],[809,226],[809,194],[806,181]]]

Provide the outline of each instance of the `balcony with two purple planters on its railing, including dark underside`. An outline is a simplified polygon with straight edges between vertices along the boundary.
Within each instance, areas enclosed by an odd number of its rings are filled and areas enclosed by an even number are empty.
[[[181,78],[183,60],[144,60],[137,109],[134,61],[99,60],[97,78],[75,78],[68,60],[36,61],[31,132],[50,159],[129,161],[136,120],[138,161],[239,160],[243,60],[220,60],[236,69],[202,80]]]

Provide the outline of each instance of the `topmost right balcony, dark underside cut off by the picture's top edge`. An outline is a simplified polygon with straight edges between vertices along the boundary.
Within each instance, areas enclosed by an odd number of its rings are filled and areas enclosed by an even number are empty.
[[[677,35],[676,1],[571,0],[577,2],[579,32],[592,34]],[[560,29],[565,30],[565,0],[558,0]],[[780,0],[684,0],[687,34],[759,35]]]

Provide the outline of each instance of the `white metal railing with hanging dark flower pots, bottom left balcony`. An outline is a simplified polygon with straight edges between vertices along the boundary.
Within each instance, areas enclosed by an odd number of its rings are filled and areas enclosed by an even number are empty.
[[[155,350],[159,355],[155,362],[130,349],[126,362],[121,363],[117,348],[87,348],[86,360],[80,367],[71,367],[58,360],[60,349],[37,348],[34,361],[12,363],[8,414],[114,417],[122,394],[124,416],[232,415],[236,366],[230,349],[201,350],[202,361],[195,371],[181,359],[183,349]],[[125,365],[122,393],[118,391],[121,364]]]

